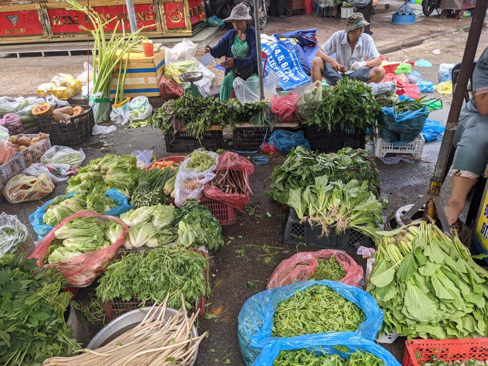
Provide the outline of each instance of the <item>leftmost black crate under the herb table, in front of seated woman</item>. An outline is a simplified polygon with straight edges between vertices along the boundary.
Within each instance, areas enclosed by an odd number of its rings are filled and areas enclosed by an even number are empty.
[[[224,144],[222,130],[203,130],[200,141],[191,136],[188,131],[180,131],[176,134],[164,134],[167,152],[191,152],[204,146],[207,150],[217,150]]]

